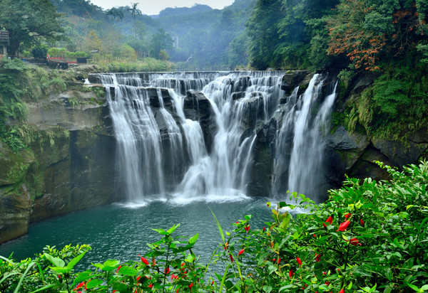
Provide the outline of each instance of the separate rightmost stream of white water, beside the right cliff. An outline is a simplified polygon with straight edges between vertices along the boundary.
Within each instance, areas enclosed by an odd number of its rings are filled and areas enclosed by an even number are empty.
[[[337,87],[335,85],[332,94],[321,102],[324,82],[325,79],[316,74],[300,98],[297,99],[298,88],[288,97],[282,127],[277,134],[277,156],[272,180],[274,194],[284,190],[280,186],[286,186],[285,190],[310,195],[315,201],[320,201],[318,195],[323,192],[320,191],[325,147],[323,137],[329,129]],[[284,175],[287,177],[284,178]]]

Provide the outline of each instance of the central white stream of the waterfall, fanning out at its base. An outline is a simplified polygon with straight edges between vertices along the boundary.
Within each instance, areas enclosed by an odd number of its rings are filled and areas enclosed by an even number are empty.
[[[280,76],[220,76],[203,88],[215,112],[213,150],[188,169],[178,191],[187,198],[244,196],[258,120],[269,117],[280,98]],[[248,129],[252,129],[248,132]]]

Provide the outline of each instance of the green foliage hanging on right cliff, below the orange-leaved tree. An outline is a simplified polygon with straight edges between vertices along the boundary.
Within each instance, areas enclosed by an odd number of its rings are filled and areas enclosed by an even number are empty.
[[[427,111],[425,71],[397,64],[347,105],[345,125],[350,130],[362,128],[370,137],[402,140],[428,126]]]

